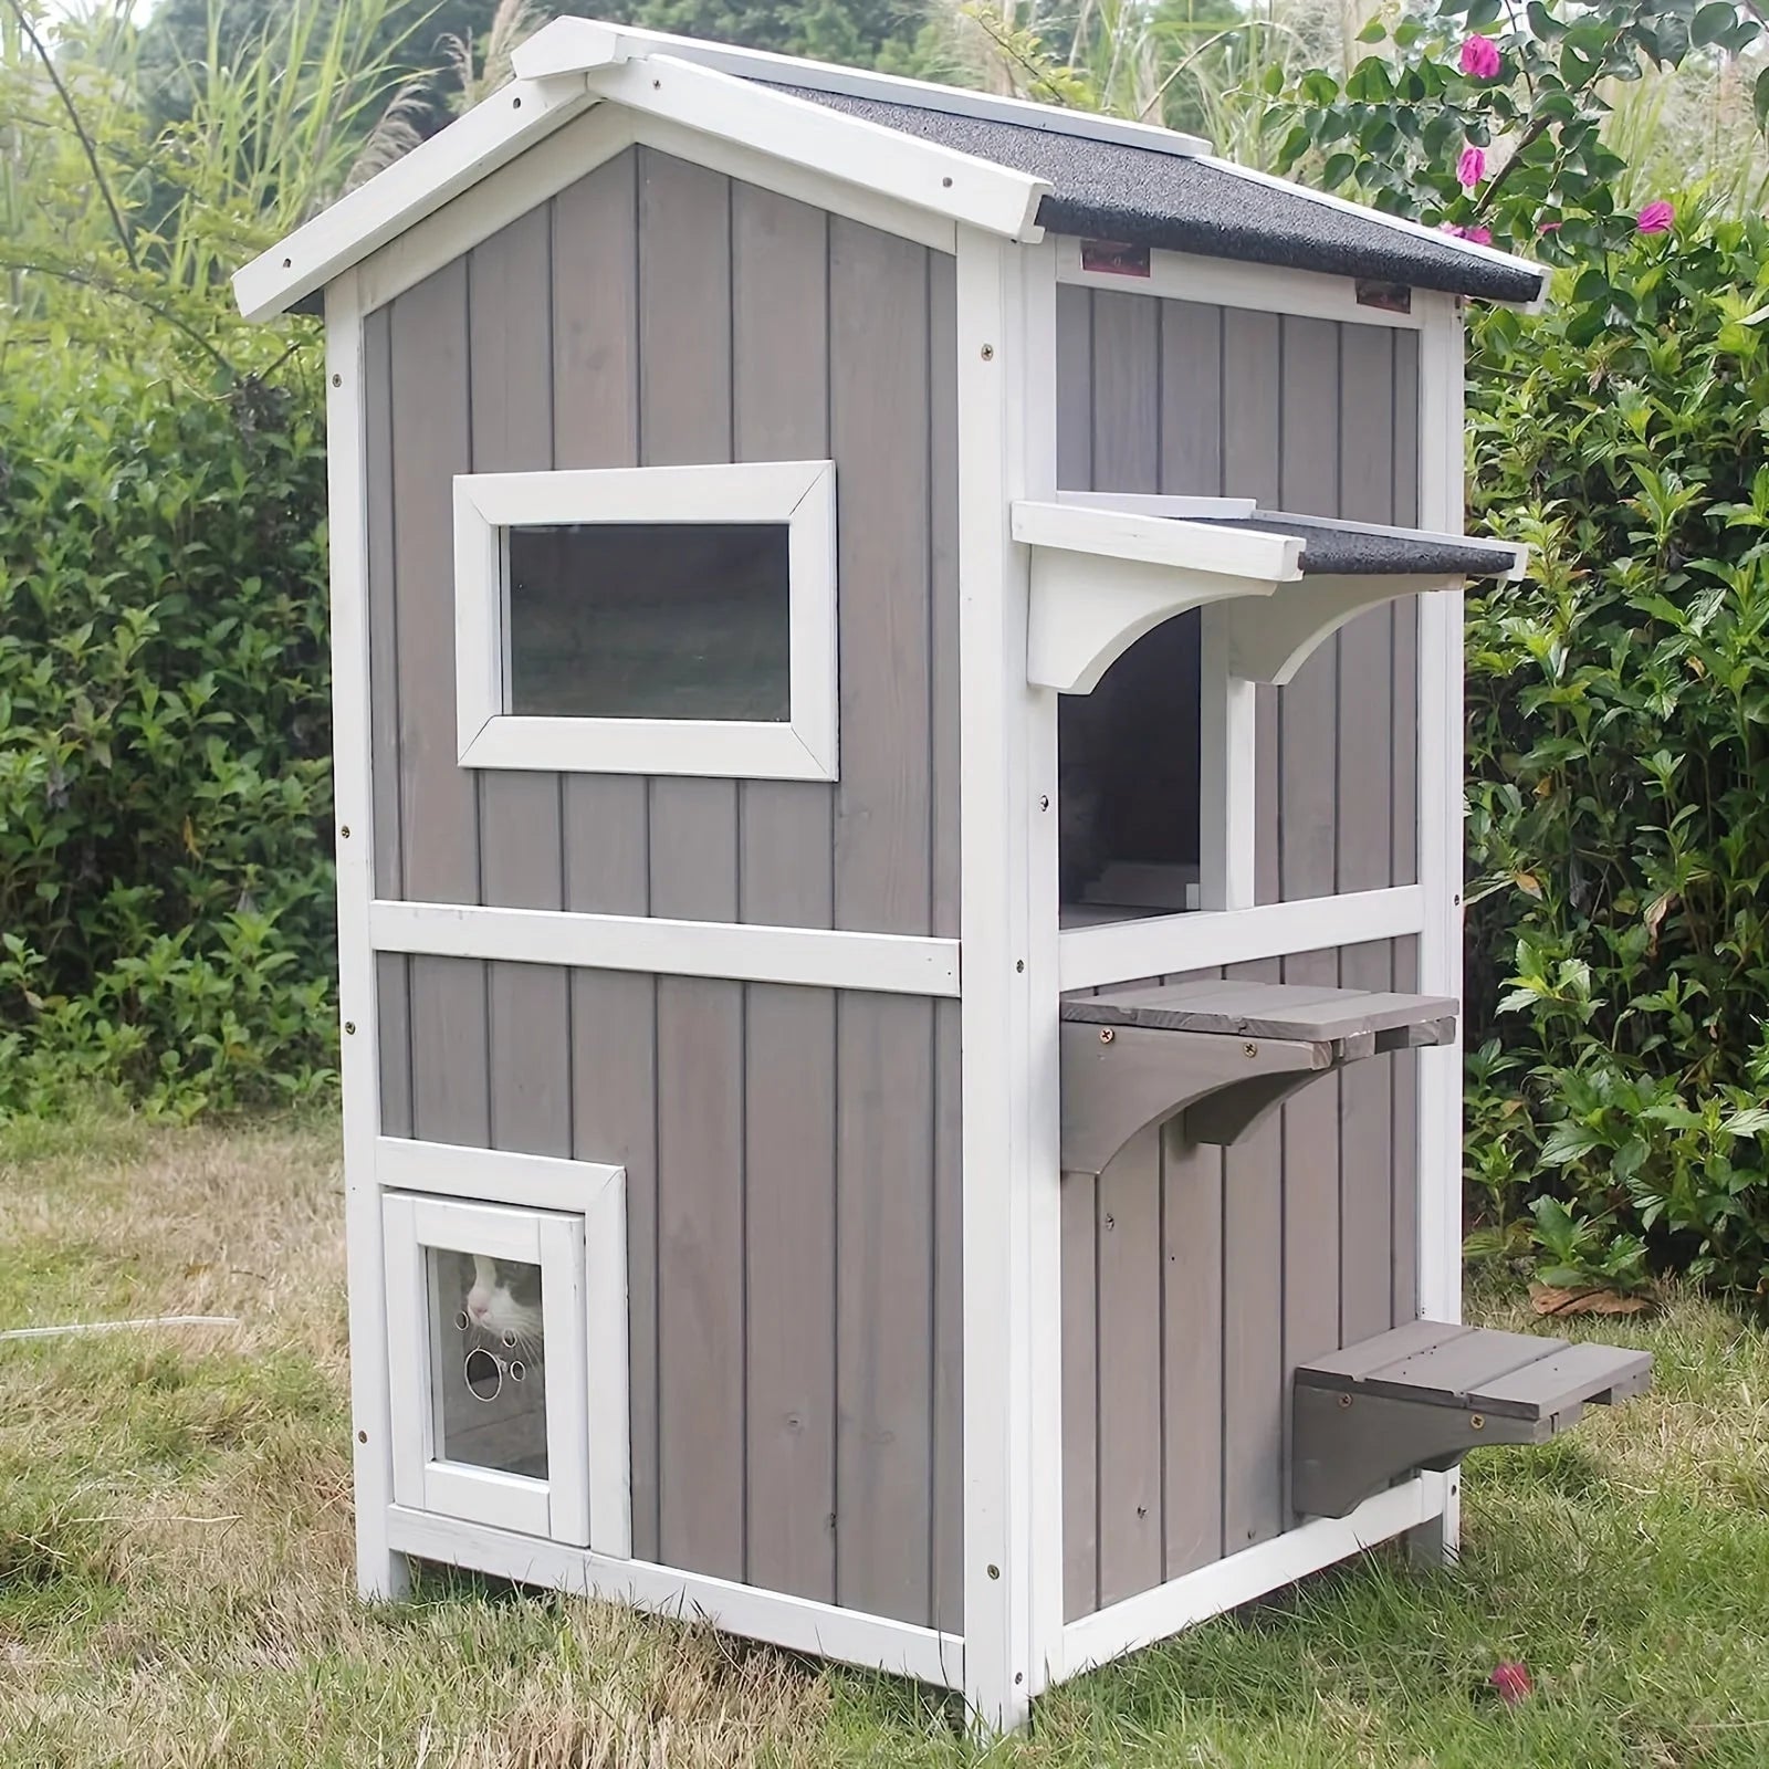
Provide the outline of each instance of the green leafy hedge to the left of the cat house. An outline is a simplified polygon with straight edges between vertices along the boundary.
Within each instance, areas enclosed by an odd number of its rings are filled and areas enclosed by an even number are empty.
[[[0,394],[0,1109],[336,1065],[311,400],[80,348]]]

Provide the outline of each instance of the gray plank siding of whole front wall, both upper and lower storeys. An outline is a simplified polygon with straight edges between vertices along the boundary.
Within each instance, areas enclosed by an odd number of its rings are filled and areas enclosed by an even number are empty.
[[[953,338],[950,258],[646,149],[371,315],[377,895],[955,938]],[[824,456],[839,784],[456,766],[455,472]],[[959,1629],[957,1003],[377,976],[387,1134],[626,1166],[635,1553]]]

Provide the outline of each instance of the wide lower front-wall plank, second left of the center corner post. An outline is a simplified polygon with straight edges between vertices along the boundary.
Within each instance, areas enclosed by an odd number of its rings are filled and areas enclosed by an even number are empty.
[[[934,1014],[844,994],[837,1109],[837,1601],[932,1615]]]

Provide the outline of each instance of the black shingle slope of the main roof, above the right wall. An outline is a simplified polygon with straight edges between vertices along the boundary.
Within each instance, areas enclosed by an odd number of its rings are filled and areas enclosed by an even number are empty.
[[[1313,202],[1224,161],[842,92],[778,90],[1049,180],[1038,225],[1053,234],[1364,276],[1484,301],[1527,302],[1543,292],[1543,272],[1458,251],[1373,211],[1353,214]]]

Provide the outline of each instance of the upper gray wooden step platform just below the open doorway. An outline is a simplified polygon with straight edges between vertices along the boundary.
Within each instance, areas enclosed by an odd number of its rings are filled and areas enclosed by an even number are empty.
[[[1061,1019],[1065,1173],[1182,1113],[1189,1141],[1238,1143],[1329,1070],[1456,1035],[1444,996],[1258,982],[1065,996]]]

